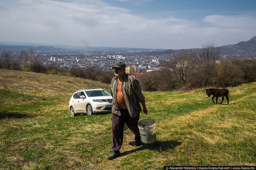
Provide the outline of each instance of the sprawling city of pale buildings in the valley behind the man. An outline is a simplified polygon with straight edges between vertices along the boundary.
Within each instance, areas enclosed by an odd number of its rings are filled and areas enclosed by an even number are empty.
[[[19,53],[14,53],[14,59],[18,60]],[[170,54],[152,55],[150,52],[134,51],[113,51],[113,52],[83,52],[83,51],[63,51],[63,52],[41,52],[34,51],[34,57],[39,57],[45,66],[56,65],[62,70],[70,71],[73,68],[86,69],[95,67],[98,69],[110,69],[116,61],[126,63],[126,73],[143,73],[159,69],[161,62],[168,59]]]

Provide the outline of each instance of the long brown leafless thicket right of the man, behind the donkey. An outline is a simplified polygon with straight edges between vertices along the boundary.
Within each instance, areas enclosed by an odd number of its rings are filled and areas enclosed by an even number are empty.
[[[188,55],[188,53],[182,55]],[[176,58],[166,61],[160,73],[150,72],[140,76],[138,79],[142,84],[142,89],[144,91],[165,91],[204,87],[224,88],[256,81],[256,58],[227,57],[214,61],[191,60],[195,57],[182,55],[174,56]],[[196,61],[196,63],[191,61]],[[182,67],[180,63],[183,63]]]

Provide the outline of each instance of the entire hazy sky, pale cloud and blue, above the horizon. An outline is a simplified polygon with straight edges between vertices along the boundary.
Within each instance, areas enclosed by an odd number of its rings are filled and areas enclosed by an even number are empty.
[[[0,41],[186,49],[256,36],[256,0],[0,0]]]

